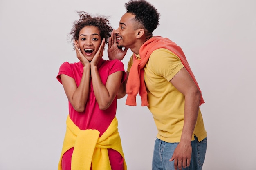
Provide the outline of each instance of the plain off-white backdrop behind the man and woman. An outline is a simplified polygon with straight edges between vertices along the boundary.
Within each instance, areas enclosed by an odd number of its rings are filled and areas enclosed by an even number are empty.
[[[256,1],[148,1],[161,14],[154,35],[182,47],[206,102],[203,170],[255,170]],[[0,1],[0,170],[57,169],[68,107],[56,75],[78,61],[67,41],[75,11],[107,15],[117,28],[125,2]],[[152,115],[139,98],[135,107],[124,103],[117,118],[128,170],[150,170]]]

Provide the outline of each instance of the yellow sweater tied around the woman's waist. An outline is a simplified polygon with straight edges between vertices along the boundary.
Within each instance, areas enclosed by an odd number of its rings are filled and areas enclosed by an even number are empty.
[[[80,130],[68,116],[58,170],[62,170],[63,154],[72,147],[74,147],[74,151],[71,159],[71,170],[90,170],[91,164],[93,170],[111,170],[108,157],[109,148],[119,152],[124,159],[121,138],[117,129],[117,118],[112,120],[101,137],[99,134],[100,132],[95,129]],[[126,169],[124,160],[124,170]]]

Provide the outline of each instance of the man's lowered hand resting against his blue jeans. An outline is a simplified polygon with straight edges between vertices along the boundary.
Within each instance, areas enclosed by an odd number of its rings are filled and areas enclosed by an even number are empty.
[[[182,170],[190,165],[192,154],[192,146],[191,141],[182,142],[178,144],[177,148],[173,152],[173,156],[171,157],[170,161],[174,160],[174,168],[175,170],[179,169]]]

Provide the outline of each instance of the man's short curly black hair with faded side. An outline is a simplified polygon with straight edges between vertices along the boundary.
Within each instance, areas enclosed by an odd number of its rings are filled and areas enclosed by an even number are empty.
[[[144,28],[152,33],[159,25],[159,16],[157,9],[146,0],[130,0],[125,3],[127,13],[135,15],[137,20]]]

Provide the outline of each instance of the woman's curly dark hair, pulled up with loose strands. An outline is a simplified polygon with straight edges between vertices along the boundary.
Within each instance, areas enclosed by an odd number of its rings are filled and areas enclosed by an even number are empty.
[[[92,17],[84,11],[78,11],[78,15],[80,19],[74,22],[73,28],[70,32],[70,35],[72,35],[72,40],[78,40],[79,32],[81,31],[81,29],[83,29],[83,27],[95,26],[99,29],[101,40],[105,38],[105,43],[108,44],[108,38],[111,36],[111,32],[113,31],[113,29],[111,26],[108,25],[109,20],[106,17]],[[74,47],[74,44],[72,45]]]

